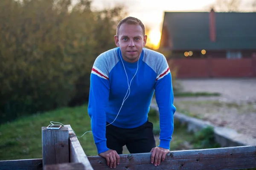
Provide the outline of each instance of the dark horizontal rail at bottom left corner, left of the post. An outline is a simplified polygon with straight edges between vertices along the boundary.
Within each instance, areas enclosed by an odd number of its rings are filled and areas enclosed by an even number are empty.
[[[0,170],[42,170],[42,159],[17,159],[0,161]]]

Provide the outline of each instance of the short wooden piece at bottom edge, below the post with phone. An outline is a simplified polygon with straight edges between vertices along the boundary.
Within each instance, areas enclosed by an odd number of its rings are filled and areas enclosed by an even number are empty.
[[[44,170],[85,170],[82,163],[65,163],[46,165]]]

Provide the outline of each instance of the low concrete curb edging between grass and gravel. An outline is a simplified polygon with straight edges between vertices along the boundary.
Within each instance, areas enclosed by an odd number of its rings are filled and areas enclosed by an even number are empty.
[[[150,108],[154,109],[159,114],[156,104],[151,104]],[[188,131],[192,131],[194,133],[202,130],[207,126],[213,127],[215,133],[215,141],[221,144],[221,147],[235,147],[256,144],[256,139],[252,136],[237,133],[236,130],[227,127],[215,126],[210,122],[196,119],[194,117],[189,117],[182,113],[178,113],[177,111],[174,114],[174,119],[179,120],[182,124],[186,123]]]

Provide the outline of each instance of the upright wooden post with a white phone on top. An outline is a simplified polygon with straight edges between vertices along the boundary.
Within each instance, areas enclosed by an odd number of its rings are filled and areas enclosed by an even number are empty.
[[[42,127],[43,167],[46,164],[69,162],[68,127],[59,130],[47,130]]]

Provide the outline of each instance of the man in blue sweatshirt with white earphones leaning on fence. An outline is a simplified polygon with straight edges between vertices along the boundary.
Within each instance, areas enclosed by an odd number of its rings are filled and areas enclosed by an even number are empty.
[[[121,20],[114,39],[117,47],[96,58],[90,77],[88,113],[99,156],[115,168],[126,145],[130,153],[151,152],[151,163],[160,165],[169,153],[176,111],[168,63],[163,54],[144,48],[147,35],[137,18]],[[159,146],[148,122],[154,92]]]

